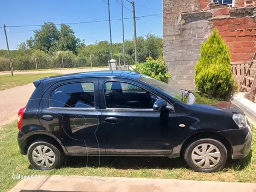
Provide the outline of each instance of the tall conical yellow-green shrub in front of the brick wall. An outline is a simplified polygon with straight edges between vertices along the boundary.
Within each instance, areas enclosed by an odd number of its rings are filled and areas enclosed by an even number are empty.
[[[197,90],[215,99],[230,99],[237,91],[230,66],[228,46],[217,29],[202,45],[201,57],[195,67]]]

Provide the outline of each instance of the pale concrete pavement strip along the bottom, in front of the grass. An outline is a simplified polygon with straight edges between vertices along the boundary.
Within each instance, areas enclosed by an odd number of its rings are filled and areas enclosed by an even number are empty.
[[[92,191],[92,192],[255,192],[256,183],[227,183],[169,179],[43,176],[23,179],[9,192]]]

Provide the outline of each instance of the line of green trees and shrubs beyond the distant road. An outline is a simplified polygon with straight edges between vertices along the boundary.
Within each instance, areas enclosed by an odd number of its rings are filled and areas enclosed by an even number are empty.
[[[84,39],[75,36],[70,26],[61,24],[58,29],[53,22],[45,22],[41,29],[34,31],[34,36],[26,42],[18,44],[17,50],[10,51],[13,69],[45,69],[71,67],[107,66],[111,59],[110,43],[96,41],[86,45]],[[163,55],[163,39],[153,34],[146,34],[137,38],[138,62],[145,62],[147,57],[157,58]],[[135,64],[134,41],[125,41],[125,55],[123,43],[113,43],[113,58],[123,65]],[[10,70],[7,50],[0,50],[0,71]]]

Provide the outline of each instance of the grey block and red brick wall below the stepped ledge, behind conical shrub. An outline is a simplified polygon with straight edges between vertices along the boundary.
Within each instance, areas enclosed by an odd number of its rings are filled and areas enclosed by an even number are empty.
[[[174,86],[195,89],[194,68],[214,27],[226,40],[232,62],[251,61],[256,51],[256,7],[182,13],[180,18],[180,24],[163,27],[164,60]]]

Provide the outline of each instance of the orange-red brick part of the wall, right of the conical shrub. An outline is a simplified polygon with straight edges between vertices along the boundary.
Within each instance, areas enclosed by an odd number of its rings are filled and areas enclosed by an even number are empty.
[[[239,17],[215,17],[213,27],[220,31],[221,37],[226,41],[231,53],[231,61],[251,61],[256,51],[256,18],[249,17],[246,9],[218,9],[213,10],[214,16],[237,14]],[[256,11],[256,7],[254,9]],[[253,12],[253,11],[252,11]]]

